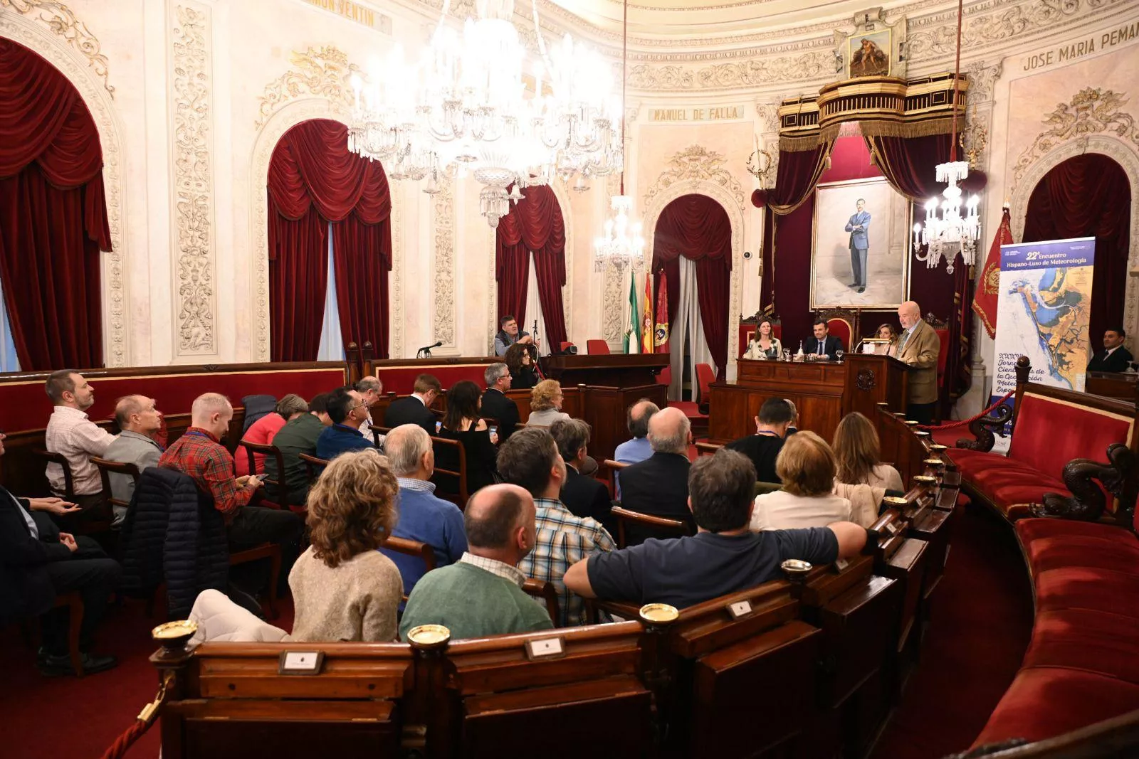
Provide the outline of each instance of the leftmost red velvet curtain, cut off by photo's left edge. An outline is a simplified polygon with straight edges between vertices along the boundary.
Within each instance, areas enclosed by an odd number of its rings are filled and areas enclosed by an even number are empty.
[[[99,132],[48,61],[0,39],[0,279],[19,365],[103,365],[110,250]]]

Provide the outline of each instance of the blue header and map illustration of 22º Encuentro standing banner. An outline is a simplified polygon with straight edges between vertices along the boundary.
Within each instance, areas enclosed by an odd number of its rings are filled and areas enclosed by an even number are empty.
[[[1016,388],[1019,356],[1031,381],[1083,391],[1095,262],[1093,237],[1001,246],[992,401]]]

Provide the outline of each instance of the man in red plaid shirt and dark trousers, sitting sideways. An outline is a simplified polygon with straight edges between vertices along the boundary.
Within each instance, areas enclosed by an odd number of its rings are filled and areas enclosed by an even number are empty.
[[[199,395],[190,410],[191,426],[166,448],[158,465],[189,475],[203,492],[210,494],[214,506],[226,518],[230,551],[244,551],[262,543],[280,544],[280,577],[285,580],[296,559],[301,520],[292,511],[248,505],[261,487],[261,479],[233,476],[233,456],[221,444],[232,418],[233,406],[229,398],[218,393]],[[249,578],[252,587],[243,589],[262,589],[267,585],[268,572],[260,574],[259,578]],[[247,583],[238,584],[244,586]]]

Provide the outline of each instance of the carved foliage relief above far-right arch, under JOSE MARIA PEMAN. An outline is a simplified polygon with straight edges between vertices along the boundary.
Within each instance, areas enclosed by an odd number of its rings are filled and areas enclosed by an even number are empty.
[[[1013,187],[1019,189],[1021,178],[1041,155],[1073,138],[1112,132],[1120,140],[1139,150],[1139,130],[1134,117],[1123,110],[1128,99],[1112,90],[1085,88],[1071,101],[1056,104],[1056,109],[1044,115],[1047,129],[1036,135],[1013,166]]]

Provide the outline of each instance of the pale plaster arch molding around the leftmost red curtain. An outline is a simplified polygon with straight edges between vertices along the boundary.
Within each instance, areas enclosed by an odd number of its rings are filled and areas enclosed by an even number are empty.
[[[11,0],[0,0],[9,5]],[[91,112],[99,130],[103,148],[103,184],[107,199],[107,221],[110,224],[110,253],[103,259],[103,346],[107,366],[126,366],[130,363],[130,331],[126,328],[126,237],[123,224],[126,217],[126,183],[123,175],[123,125],[114,107],[112,90],[106,81],[98,81],[98,71],[83,66],[65,40],[54,36],[42,25],[28,18],[0,14],[0,36],[19,42],[58,68],[67,77]]]

